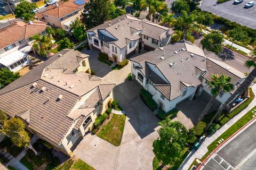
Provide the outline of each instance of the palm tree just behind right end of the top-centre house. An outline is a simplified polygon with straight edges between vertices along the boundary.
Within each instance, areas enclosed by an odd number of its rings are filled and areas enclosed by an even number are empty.
[[[196,21],[195,13],[188,14],[186,11],[181,11],[181,15],[177,19],[177,24],[175,25],[178,30],[183,31],[183,39],[190,41],[194,40],[194,37],[191,36],[191,30],[194,27],[194,22]]]

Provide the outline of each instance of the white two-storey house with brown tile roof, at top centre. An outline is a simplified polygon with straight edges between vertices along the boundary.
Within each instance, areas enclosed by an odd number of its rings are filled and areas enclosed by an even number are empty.
[[[125,14],[87,30],[87,37],[90,48],[108,54],[109,60],[119,64],[140,51],[169,44],[172,33],[172,29]]]

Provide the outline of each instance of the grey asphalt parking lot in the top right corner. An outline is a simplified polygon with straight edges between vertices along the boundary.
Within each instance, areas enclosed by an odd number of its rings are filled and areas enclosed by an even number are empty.
[[[250,1],[253,0],[244,0],[241,4],[234,5],[234,1],[227,1],[225,3],[217,4],[217,0],[204,0],[199,7],[204,11],[211,12],[230,21],[235,21],[245,25],[246,27],[255,29],[256,5],[250,8],[244,8],[244,5]]]

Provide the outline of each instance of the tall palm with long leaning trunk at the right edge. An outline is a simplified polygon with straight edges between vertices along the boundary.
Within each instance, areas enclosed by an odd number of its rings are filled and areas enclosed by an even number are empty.
[[[249,73],[249,75],[245,78],[245,80],[242,82],[242,84],[236,89],[236,91],[225,101],[225,103],[223,105],[221,105],[217,111],[217,113],[213,116],[212,120],[210,121],[210,123],[208,124],[208,126],[206,127],[205,131],[207,131],[207,129],[209,128],[210,124],[214,121],[214,120],[218,120],[218,118],[220,117],[221,113],[223,112],[224,109],[227,108],[228,105],[233,104],[231,101],[233,101],[237,96],[240,96],[243,94],[243,92],[249,88],[249,86],[251,85],[251,83],[253,82],[253,80],[256,78],[256,62],[253,60],[250,61],[246,61],[245,65],[247,67],[253,67],[253,70]],[[231,102],[231,103],[230,103]],[[229,110],[229,109],[228,109]]]

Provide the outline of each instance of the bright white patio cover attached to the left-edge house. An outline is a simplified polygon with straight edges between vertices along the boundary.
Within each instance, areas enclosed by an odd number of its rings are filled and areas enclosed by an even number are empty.
[[[15,62],[20,61],[22,58],[27,57],[27,54],[20,52],[19,50],[8,54],[2,58],[0,58],[0,63],[7,66],[12,65]]]

